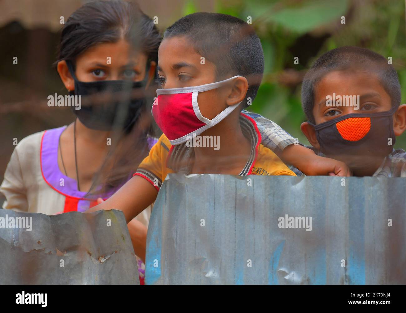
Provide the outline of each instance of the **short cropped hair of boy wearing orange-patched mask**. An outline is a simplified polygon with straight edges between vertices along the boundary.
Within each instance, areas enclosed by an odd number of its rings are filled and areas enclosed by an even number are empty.
[[[302,107],[310,122],[313,116],[315,86],[331,71],[346,71],[351,74],[358,71],[375,73],[380,84],[391,97],[392,106],[400,104],[401,92],[399,77],[388,60],[369,49],[345,46],[330,51],[318,58],[309,69],[302,83]]]

